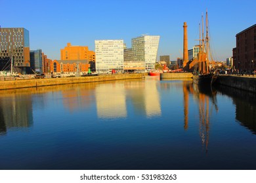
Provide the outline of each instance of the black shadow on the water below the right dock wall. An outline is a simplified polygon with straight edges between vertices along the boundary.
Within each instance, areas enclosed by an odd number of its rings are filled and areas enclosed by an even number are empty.
[[[236,120],[256,134],[256,93],[227,86],[216,86],[219,93],[232,98],[236,106]]]

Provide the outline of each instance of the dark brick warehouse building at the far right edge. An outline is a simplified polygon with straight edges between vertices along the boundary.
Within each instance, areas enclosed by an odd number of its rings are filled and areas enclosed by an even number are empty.
[[[256,69],[256,24],[236,35],[233,48],[234,69],[251,72]]]

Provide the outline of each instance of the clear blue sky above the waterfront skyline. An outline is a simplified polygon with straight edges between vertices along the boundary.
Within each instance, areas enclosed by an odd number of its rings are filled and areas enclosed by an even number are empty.
[[[97,39],[131,39],[160,35],[158,56],[182,57],[183,22],[188,25],[188,48],[198,44],[199,23],[208,10],[213,58],[232,56],[236,34],[256,24],[255,0],[0,0],[1,27],[30,31],[30,50],[41,48],[60,59],[67,42],[95,50]],[[158,57],[159,59],[159,57]]]

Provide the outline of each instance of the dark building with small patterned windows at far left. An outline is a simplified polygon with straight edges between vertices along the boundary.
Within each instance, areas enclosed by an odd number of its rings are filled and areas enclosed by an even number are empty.
[[[30,37],[24,28],[0,28],[0,69],[26,73],[30,68]]]

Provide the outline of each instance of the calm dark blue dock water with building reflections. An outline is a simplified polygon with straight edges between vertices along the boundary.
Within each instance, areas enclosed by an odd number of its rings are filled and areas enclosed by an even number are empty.
[[[0,169],[256,169],[256,95],[192,80],[0,92]]]

